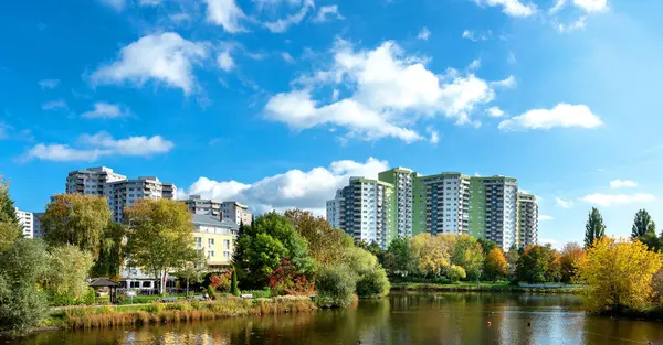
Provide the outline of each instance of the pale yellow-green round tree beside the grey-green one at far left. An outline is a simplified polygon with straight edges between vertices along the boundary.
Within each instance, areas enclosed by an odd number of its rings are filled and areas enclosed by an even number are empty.
[[[93,265],[92,254],[76,246],[51,247],[49,269],[42,278],[51,302],[56,305],[71,305],[87,292],[87,274]]]

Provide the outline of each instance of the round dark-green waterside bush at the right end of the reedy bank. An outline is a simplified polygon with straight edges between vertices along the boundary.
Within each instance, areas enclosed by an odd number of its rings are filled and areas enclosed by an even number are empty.
[[[346,266],[323,267],[316,279],[320,308],[344,308],[355,299],[356,277]]]

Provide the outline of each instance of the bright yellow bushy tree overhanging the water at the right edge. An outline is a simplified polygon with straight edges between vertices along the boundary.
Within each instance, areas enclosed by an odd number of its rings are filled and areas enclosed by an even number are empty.
[[[597,239],[579,268],[587,282],[582,301],[592,312],[644,311],[654,294],[652,277],[662,266],[661,254],[638,240]]]

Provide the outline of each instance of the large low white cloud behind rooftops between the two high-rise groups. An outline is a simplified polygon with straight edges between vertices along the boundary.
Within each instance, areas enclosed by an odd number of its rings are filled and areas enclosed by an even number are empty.
[[[350,176],[376,179],[378,172],[387,169],[386,161],[369,158],[366,162],[336,161],[328,168],[318,166],[308,171],[290,170],[253,183],[200,177],[178,197],[201,195],[245,203],[259,212],[298,207],[322,215],[326,201],[333,198],[336,190],[345,186]]]

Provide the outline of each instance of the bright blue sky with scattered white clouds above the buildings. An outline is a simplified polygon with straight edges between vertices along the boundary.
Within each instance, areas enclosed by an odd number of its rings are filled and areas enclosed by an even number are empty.
[[[516,176],[539,238],[663,217],[659,0],[11,1],[0,173],[41,211],[106,165],[318,213],[351,175]],[[663,222],[663,220],[661,220]]]

